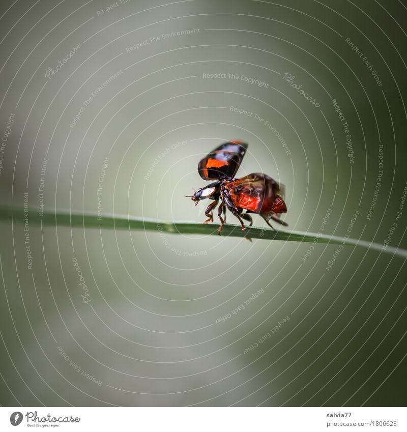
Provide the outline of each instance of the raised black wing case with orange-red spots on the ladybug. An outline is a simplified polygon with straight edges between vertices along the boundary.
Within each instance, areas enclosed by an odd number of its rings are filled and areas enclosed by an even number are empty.
[[[198,172],[203,180],[233,178],[242,163],[248,144],[243,141],[225,142],[199,161]]]

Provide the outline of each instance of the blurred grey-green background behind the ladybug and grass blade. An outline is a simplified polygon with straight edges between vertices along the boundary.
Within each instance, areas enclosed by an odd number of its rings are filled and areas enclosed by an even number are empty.
[[[2,8],[2,205],[203,221],[241,139],[289,229],[407,248],[401,2]],[[406,404],[401,257],[36,222],[0,224],[2,406]]]

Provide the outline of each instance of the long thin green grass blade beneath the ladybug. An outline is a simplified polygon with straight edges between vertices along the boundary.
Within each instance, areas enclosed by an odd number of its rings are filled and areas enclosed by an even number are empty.
[[[24,222],[24,209],[10,207],[0,207],[0,220],[11,221],[14,223]],[[58,226],[85,227],[85,228],[105,228],[105,229],[129,229],[130,231],[152,231],[158,230],[169,234],[200,234],[218,235],[217,224],[203,224],[201,222],[185,221],[161,221],[155,219],[142,219],[132,216],[103,215],[99,220],[96,214],[78,214],[69,211],[59,211],[57,213],[44,212],[42,217],[38,216],[38,210],[27,210],[28,221],[30,224],[43,225],[57,224]],[[249,237],[251,239],[263,240],[283,240],[294,242],[315,242],[329,244],[343,244],[348,246],[360,246],[368,249],[377,250],[384,253],[391,253],[397,256],[407,257],[407,250],[392,246],[384,247],[383,244],[371,243],[364,240],[342,238],[336,236],[323,235],[321,233],[306,233],[301,231],[273,231],[270,228],[247,227],[242,231],[240,225],[226,224],[222,230],[222,236],[230,237]]]

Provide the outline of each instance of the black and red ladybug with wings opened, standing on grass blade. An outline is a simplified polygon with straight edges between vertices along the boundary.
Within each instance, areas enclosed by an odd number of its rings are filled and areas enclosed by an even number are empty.
[[[243,220],[248,221],[250,226],[253,224],[250,213],[259,214],[272,229],[274,228],[269,222],[270,219],[288,226],[279,219],[281,213],[287,212],[287,207],[277,193],[282,191],[282,188],[275,180],[258,172],[241,179],[235,178],[247,147],[246,142],[229,141],[209,153],[199,162],[198,172],[203,180],[214,182],[198,189],[192,196],[186,195],[195,201],[195,206],[201,199],[209,198],[214,201],[205,210],[208,219],[203,223],[213,222],[212,210],[216,208],[219,200],[221,201],[218,208],[221,222],[219,235],[226,221],[226,208],[239,219],[243,231],[246,229]]]

